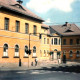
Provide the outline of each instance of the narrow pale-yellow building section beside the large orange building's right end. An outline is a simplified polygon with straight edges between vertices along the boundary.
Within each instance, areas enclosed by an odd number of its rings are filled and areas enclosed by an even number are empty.
[[[41,25],[41,43],[40,43],[40,59],[49,60],[50,52],[50,37],[49,37],[49,26],[46,24]]]

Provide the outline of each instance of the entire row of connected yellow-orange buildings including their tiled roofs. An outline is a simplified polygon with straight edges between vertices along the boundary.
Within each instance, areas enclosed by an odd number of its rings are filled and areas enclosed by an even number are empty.
[[[15,0],[0,0],[0,66],[29,67],[35,58],[56,60],[63,55],[80,60],[80,29],[75,24],[48,26],[43,21]]]

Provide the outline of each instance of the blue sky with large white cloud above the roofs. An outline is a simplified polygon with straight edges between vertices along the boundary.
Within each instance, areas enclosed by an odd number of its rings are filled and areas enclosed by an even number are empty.
[[[22,0],[23,5],[45,20],[47,25],[65,22],[80,26],[80,0]]]

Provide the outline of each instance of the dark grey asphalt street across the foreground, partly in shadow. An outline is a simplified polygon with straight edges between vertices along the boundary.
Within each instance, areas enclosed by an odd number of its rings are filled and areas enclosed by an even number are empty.
[[[24,71],[0,71],[0,80],[80,80],[80,66],[48,66]]]

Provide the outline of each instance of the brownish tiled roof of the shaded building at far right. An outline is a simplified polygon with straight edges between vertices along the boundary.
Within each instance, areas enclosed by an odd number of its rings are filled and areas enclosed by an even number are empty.
[[[50,33],[57,32],[63,36],[80,35],[80,29],[75,24],[50,26]]]

